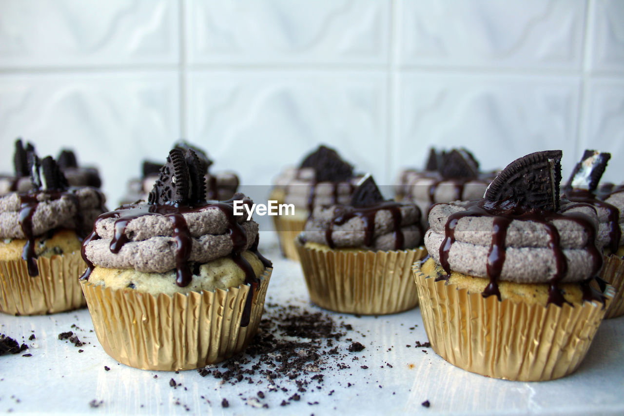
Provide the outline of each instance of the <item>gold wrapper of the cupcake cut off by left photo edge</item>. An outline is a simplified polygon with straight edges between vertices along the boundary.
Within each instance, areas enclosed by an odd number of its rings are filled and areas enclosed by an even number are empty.
[[[87,265],[80,252],[39,257],[37,267],[39,275],[31,277],[26,261],[0,261],[0,312],[42,315],[84,307],[78,279]]]

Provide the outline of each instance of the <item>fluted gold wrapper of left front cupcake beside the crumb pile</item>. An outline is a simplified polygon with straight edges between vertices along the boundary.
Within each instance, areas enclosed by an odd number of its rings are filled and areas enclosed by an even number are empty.
[[[245,349],[258,330],[273,269],[260,275],[249,325],[241,318],[250,285],[158,296],[80,280],[97,339],[122,364],[144,370],[192,370]]]

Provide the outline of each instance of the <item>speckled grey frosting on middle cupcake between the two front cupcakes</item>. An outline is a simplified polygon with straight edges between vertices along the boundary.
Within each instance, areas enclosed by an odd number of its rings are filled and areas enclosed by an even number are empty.
[[[303,237],[310,242],[328,244],[326,230],[330,227],[337,206],[316,207],[306,222]],[[401,204],[401,232],[404,237],[402,249],[412,248],[422,241],[422,232],[418,223],[421,220],[421,212],[415,204]],[[354,247],[372,250],[394,250],[394,221],[388,209],[380,209],[375,214],[373,230],[373,245],[364,245],[365,227],[364,220],[353,217],[342,225],[333,224],[331,235],[335,247]]]

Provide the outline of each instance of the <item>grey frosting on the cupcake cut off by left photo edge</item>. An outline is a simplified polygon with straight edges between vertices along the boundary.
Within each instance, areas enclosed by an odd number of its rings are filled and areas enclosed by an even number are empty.
[[[104,195],[92,187],[72,188],[71,194],[52,199],[51,194],[39,192],[37,205],[32,214],[32,232],[37,237],[57,228],[91,229],[97,215],[102,213]],[[16,192],[0,197],[0,238],[24,239],[19,224],[21,198]],[[80,215],[77,213],[80,212]],[[77,224],[76,221],[81,221]]]

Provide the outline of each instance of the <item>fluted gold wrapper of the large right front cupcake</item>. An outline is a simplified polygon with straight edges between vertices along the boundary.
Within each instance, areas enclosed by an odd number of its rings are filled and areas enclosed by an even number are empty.
[[[601,302],[574,307],[500,302],[436,282],[418,264],[414,279],[434,351],[452,365],[497,379],[544,381],[572,373],[606,311]],[[613,293],[607,285],[607,307]]]

